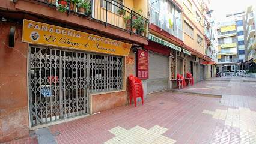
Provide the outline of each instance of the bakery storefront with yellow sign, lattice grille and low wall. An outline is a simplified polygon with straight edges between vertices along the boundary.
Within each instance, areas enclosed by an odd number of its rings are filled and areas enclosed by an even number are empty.
[[[109,92],[120,95],[113,106],[126,103],[124,56],[131,44],[31,20],[23,20],[22,41],[29,46],[31,127],[110,109],[99,104],[112,101]]]

